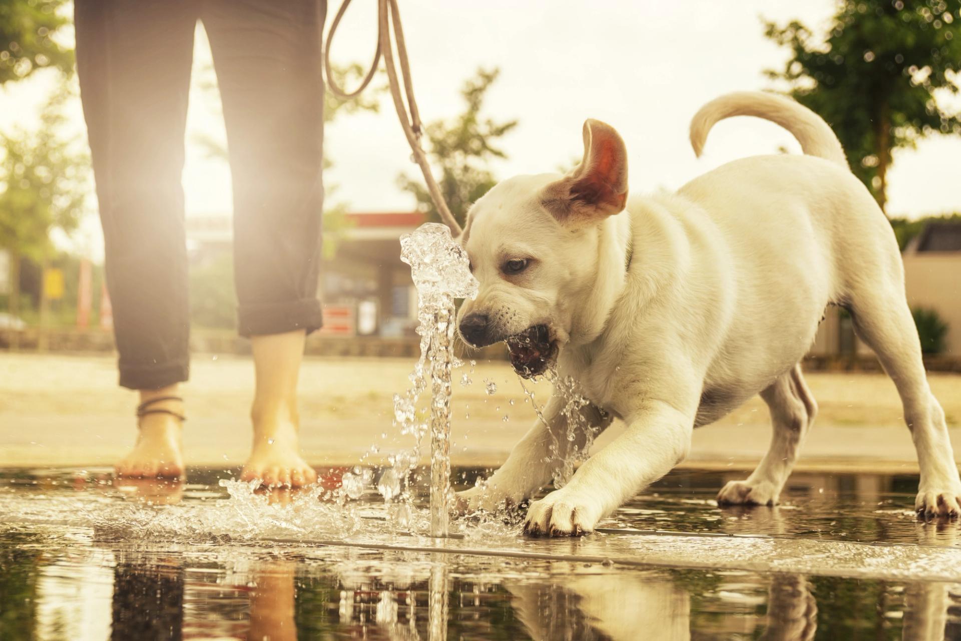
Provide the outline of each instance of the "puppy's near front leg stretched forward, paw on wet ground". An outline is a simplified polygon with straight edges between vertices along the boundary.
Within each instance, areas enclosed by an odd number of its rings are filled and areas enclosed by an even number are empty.
[[[647,401],[631,412],[627,431],[587,459],[567,485],[530,504],[524,530],[535,536],[593,531],[604,516],[687,456],[697,404],[688,406]]]

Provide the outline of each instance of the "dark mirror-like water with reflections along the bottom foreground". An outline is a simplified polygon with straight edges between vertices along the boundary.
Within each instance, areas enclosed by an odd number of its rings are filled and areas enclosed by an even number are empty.
[[[807,641],[875,629],[865,638],[920,641],[961,631],[961,585],[948,583],[339,547],[132,551],[86,541],[67,552],[55,547],[66,541],[48,540],[43,554],[23,552],[37,543],[3,539],[0,638]]]

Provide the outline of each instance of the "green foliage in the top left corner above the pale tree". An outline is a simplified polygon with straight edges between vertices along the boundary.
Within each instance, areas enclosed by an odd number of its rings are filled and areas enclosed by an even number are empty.
[[[0,86],[55,66],[73,72],[73,52],[53,35],[70,22],[65,0],[0,0]]]

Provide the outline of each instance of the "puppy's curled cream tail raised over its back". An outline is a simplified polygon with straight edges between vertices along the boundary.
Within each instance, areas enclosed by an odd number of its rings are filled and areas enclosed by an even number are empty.
[[[848,160],[838,137],[824,119],[801,104],[774,93],[736,91],[715,98],[694,114],[691,120],[691,146],[700,157],[711,127],[735,115],[753,115],[780,125],[798,139],[807,156],[817,156],[848,168]]]

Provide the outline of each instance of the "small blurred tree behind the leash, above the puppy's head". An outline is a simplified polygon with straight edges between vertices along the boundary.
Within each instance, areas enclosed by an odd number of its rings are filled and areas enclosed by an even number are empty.
[[[435,120],[425,128],[428,158],[440,176],[437,183],[447,206],[461,225],[471,204],[497,183],[487,163],[506,156],[494,146],[495,141],[517,126],[517,120],[496,122],[480,116],[487,89],[499,74],[497,68],[478,69],[477,75],[466,81],[460,90],[466,104],[463,113],[450,122]],[[425,211],[431,220],[440,220],[431,194],[419,178],[411,179],[402,174],[398,177],[398,185],[414,195],[419,210]]]

